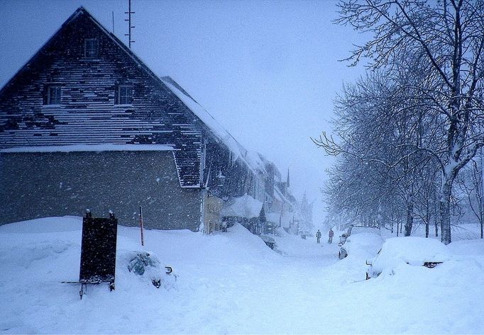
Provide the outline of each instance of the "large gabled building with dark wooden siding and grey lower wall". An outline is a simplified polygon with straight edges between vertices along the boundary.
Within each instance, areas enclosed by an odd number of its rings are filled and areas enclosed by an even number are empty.
[[[270,207],[277,173],[82,7],[0,91],[0,224],[137,225],[142,205],[148,228],[196,231],[229,197]]]

